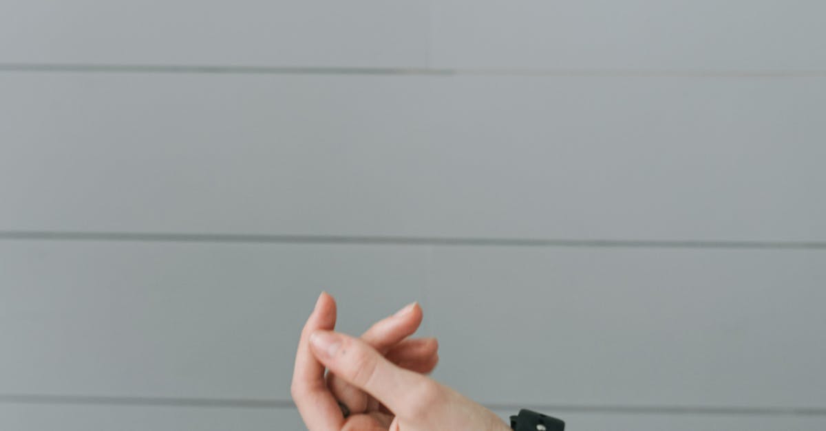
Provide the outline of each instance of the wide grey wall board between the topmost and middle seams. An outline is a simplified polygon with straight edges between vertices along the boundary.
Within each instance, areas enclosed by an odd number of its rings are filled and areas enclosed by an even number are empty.
[[[824,241],[824,83],[2,73],[0,230]]]

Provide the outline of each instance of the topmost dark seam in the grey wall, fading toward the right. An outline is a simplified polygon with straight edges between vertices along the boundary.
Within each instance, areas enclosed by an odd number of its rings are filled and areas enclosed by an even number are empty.
[[[826,70],[714,70],[714,69],[449,69],[326,66],[244,66],[216,64],[72,64],[0,63],[7,72],[91,73],[238,73],[320,75],[479,75],[536,77],[639,78],[826,78]]]

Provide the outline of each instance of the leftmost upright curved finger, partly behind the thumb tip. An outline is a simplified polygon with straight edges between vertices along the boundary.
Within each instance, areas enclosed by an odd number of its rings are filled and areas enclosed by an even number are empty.
[[[292,398],[301,418],[311,431],[341,429],[344,416],[338,403],[327,390],[324,379],[325,366],[313,355],[310,335],[320,329],[335,328],[335,301],[327,293],[321,293],[316,308],[301,330],[301,340],[296,353],[296,365],[292,373]]]

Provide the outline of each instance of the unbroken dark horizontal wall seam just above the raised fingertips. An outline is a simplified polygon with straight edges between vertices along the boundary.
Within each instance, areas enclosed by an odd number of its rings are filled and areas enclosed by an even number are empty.
[[[247,244],[364,244],[484,247],[591,247],[651,249],[826,249],[819,241],[706,241],[632,239],[463,238],[313,234],[173,234],[0,230],[0,240],[122,241]]]

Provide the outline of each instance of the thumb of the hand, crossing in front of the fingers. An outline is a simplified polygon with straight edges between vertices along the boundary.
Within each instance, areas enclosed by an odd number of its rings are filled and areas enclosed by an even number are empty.
[[[420,418],[442,398],[438,383],[396,367],[360,339],[318,330],[310,344],[314,356],[331,372],[373,395],[401,418]]]

